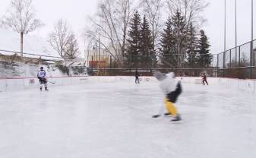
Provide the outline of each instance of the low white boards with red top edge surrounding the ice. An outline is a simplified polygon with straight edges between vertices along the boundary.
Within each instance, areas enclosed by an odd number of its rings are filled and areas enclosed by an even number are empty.
[[[177,77],[184,84],[198,84],[201,77]],[[80,76],[80,77],[48,77],[48,80],[55,82],[50,84],[52,86],[66,86],[75,84],[90,84],[90,83],[119,83],[127,82],[133,83],[134,77],[128,76]],[[156,82],[154,77],[140,77],[141,83]],[[240,80],[232,78],[208,77],[209,84],[223,85],[226,88],[234,88],[236,90],[246,91],[255,94],[256,81],[255,80]],[[11,90],[24,90],[39,87],[39,81],[36,77],[13,77],[13,78],[0,78],[0,92]]]

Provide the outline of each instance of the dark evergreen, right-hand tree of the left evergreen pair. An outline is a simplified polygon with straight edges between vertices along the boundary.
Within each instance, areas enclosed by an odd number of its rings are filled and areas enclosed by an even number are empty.
[[[151,68],[156,64],[156,53],[153,50],[153,37],[146,16],[143,18],[140,32],[141,67]]]

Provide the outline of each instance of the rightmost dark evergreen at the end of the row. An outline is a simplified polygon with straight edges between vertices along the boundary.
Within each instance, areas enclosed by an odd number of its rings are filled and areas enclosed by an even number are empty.
[[[204,30],[200,31],[200,40],[198,43],[198,65],[200,68],[208,68],[213,59],[213,55],[210,54],[208,37],[204,33]]]

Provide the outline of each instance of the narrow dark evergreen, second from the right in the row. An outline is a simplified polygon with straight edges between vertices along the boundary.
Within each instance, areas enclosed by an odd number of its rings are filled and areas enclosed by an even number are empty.
[[[187,64],[189,68],[195,68],[198,62],[197,56],[198,38],[193,24],[188,27],[187,34]]]

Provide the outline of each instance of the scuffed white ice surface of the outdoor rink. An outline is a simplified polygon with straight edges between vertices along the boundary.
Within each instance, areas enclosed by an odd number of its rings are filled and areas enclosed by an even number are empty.
[[[1,158],[254,158],[256,97],[182,84],[182,122],[151,118],[158,83],[88,83],[0,93]]]

